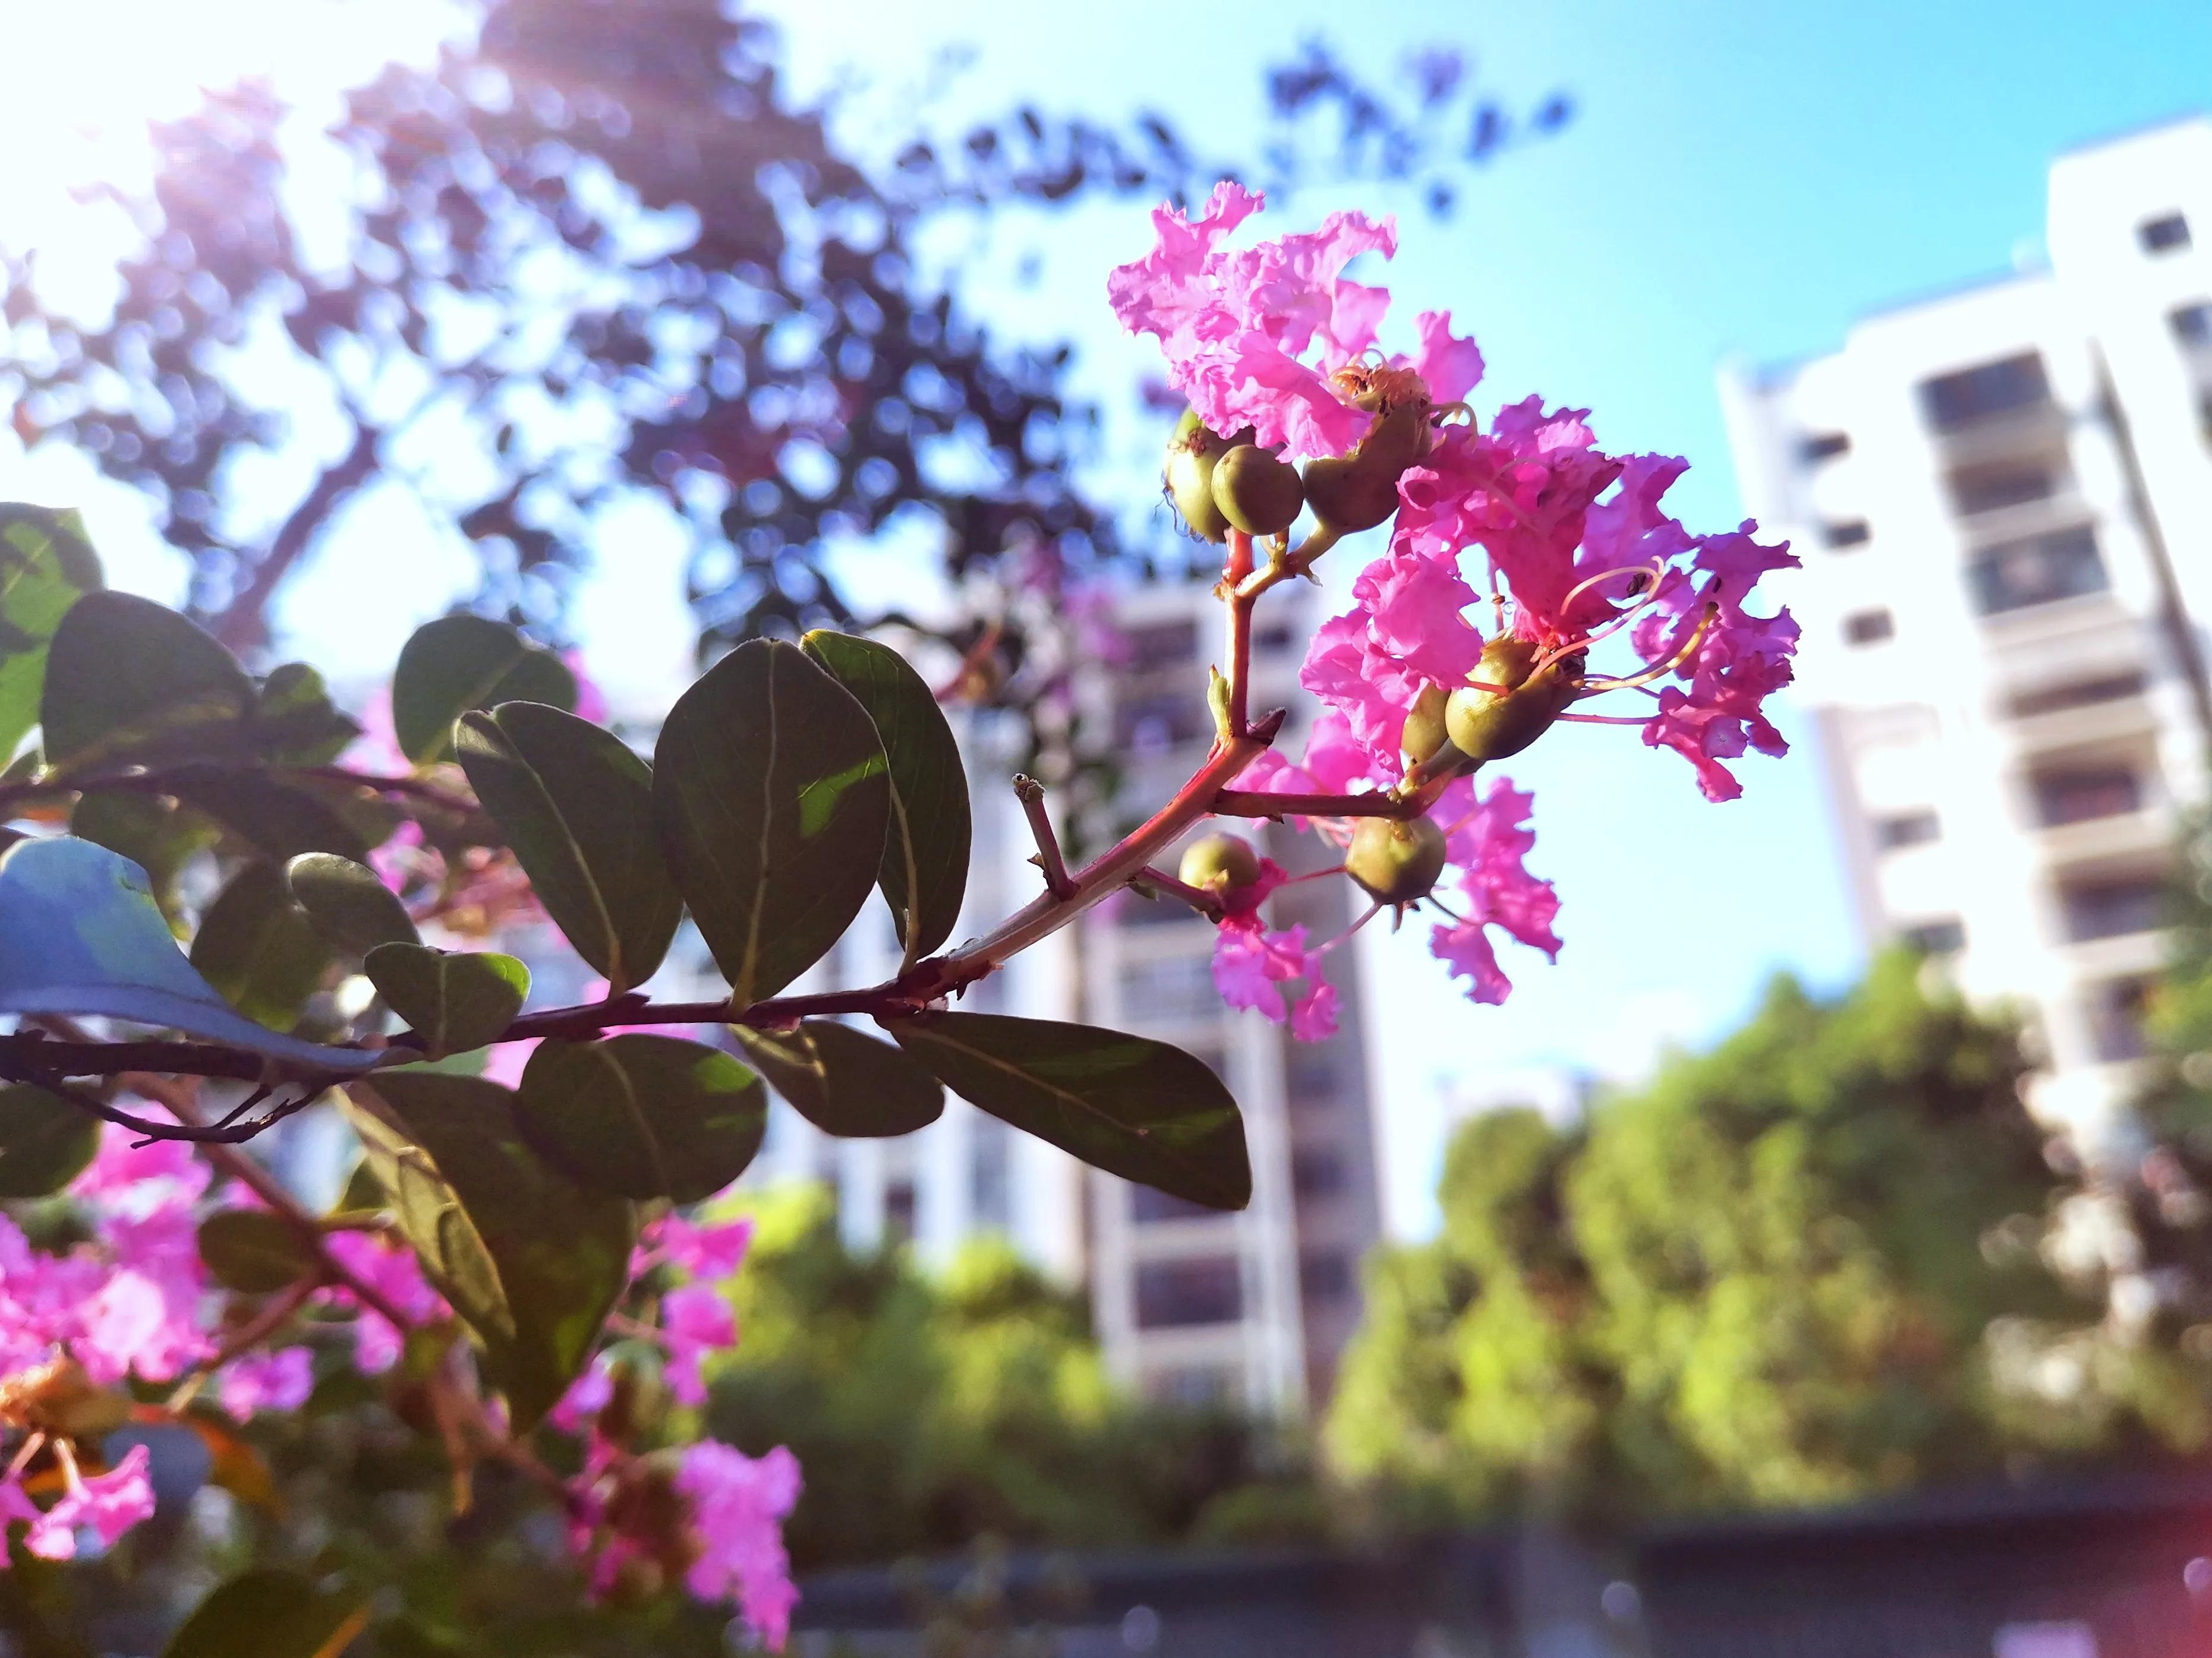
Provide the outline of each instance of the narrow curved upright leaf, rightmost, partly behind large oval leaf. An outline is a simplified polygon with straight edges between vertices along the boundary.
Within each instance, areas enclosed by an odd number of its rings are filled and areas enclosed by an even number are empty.
[[[854,694],[883,738],[891,822],[876,884],[911,966],[953,935],[967,895],[973,825],[960,743],[929,681],[889,646],[827,630],[810,632],[803,646]]]

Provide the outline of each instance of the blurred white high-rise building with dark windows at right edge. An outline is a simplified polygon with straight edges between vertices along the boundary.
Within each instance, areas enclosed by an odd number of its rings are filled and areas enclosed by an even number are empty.
[[[2022,1006],[2031,1103],[2095,1138],[2208,796],[2212,122],[2059,157],[2046,241],[1721,396],[1745,506],[1805,557],[1798,694],[1869,942]]]

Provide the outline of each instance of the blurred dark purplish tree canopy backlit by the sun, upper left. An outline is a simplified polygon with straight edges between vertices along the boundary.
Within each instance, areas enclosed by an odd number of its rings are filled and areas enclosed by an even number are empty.
[[[86,203],[135,243],[111,305],[0,263],[18,436],[146,493],[234,648],[367,491],[476,557],[476,608],[553,634],[595,522],[635,500],[681,524],[710,643],[883,619],[825,548],[909,513],[953,577],[1113,559],[1071,475],[1095,411],[1062,391],[1068,349],[993,338],[933,283],[933,214],[1314,166],[1444,212],[1455,172],[1568,115],[1509,115],[1449,51],[1374,91],[1310,46],[1265,77],[1254,157],[1199,157],[1157,113],[1018,106],[869,161],[721,0],[482,0],[480,22],[327,135],[250,84],[157,128],[153,190]],[[1018,674],[1000,619],[949,643],[987,630]]]

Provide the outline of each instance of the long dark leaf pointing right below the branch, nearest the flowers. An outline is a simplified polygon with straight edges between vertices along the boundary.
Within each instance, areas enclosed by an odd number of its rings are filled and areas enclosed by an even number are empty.
[[[1252,1200],[1237,1101],[1181,1048],[993,1012],[880,1024],[956,1094],[1097,1169],[1208,1209]]]

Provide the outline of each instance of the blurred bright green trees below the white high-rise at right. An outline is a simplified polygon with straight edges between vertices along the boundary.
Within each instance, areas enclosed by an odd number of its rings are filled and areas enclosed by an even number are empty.
[[[2154,1353],[2048,1366],[2099,1304],[2046,1267],[2066,1192],[2022,1070],[1889,955],[1832,1004],[1776,979],[1584,1125],[1473,1119],[1442,1236],[1369,1267],[1338,1466],[1433,1517],[1635,1519],[2201,1444]]]

